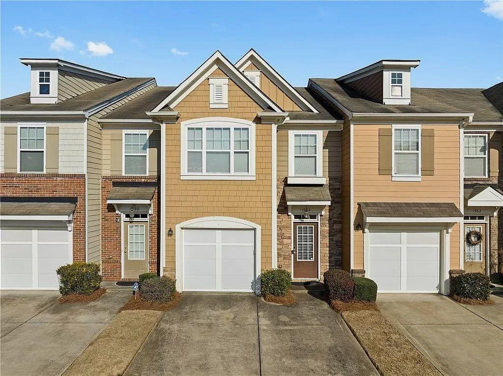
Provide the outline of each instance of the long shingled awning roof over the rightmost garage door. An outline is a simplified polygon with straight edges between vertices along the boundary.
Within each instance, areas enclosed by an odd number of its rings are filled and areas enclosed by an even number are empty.
[[[451,218],[463,217],[453,203],[359,203],[367,217]]]

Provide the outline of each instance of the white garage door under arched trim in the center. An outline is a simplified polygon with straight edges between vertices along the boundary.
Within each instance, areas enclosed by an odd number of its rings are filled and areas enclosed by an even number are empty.
[[[253,291],[253,230],[183,230],[184,291]]]

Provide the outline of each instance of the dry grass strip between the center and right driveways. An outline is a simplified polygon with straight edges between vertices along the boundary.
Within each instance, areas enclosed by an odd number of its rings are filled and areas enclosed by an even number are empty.
[[[381,375],[442,375],[381,312],[345,311],[341,316]]]

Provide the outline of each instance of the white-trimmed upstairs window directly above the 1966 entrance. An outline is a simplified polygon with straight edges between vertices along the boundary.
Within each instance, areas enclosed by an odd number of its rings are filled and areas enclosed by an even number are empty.
[[[124,133],[124,175],[147,174],[148,133],[143,131]]]

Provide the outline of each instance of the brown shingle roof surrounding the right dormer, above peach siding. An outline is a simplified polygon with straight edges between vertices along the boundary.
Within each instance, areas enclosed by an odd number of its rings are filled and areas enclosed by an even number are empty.
[[[353,113],[475,113],[474,121],[501,121],[503,115],[484,96],[483,89],[411,88],[411,105],[383,105],[333,78],[311,78]]]

